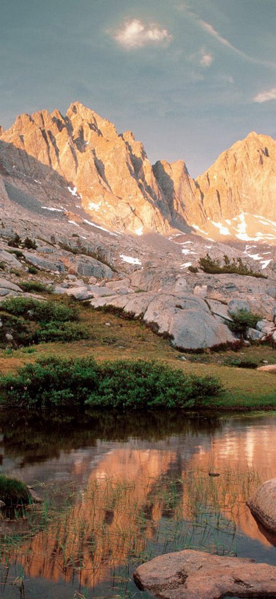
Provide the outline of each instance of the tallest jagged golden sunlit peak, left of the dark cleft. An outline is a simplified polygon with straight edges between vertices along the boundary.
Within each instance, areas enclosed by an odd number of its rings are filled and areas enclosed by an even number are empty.
[[[35,180],[40,164],[47,165],[67,181],[76,204],[111,228],[138,235],[169,231],[171,217],[160,210],[163,195],[142,144],[131,132],[118,135],[112,123],[82,104],[71,104],[65,117],[57,110],[22,114],[2,132],[1,142],[2,153],[12,155],[10,171],[23,171]],[[28,156],[35,158],[37,168]]]

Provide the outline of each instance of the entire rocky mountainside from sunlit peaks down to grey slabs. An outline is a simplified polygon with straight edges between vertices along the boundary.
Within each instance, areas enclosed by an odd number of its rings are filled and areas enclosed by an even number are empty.
[[[78,102],[19,116],[0,128],[0,302],[50,283],[182,349],[235,342],[244,307],[265,319],[248,339],[276,343],[275,147],[250,134],[195,181]],[[248,270],[204,271],[207,252]]]

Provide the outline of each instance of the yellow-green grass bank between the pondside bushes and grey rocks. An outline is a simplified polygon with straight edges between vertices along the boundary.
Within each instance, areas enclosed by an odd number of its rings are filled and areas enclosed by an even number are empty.
[[[157,337],[141,322],[123,320],[83,305],[78,322],[86,327],[87,339],[72,343],[41,343],[23,349],[10,345],[0,350],[0,372],[14,373],[26,362],[32,363],[47,355],[60,358],[93,356],[99,362],[146,358],[180,368],[184,374],[219,377],[226,391],[213,398],[211,406],[214,409],[276,409],[276,377],[262,371],[235,367],[237,360],[254,361],[258,365],[263,361],[275,363],[276,352],[271,347],[251,346],[238,352],[180,354],[168,340]],[[181,356],[186,361],[181,361]]]

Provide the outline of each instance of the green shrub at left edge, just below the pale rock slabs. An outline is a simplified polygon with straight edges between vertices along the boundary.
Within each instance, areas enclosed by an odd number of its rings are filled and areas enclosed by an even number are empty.
[[[34,298],[14,297],[5,299],[1,304],[1,310],[5,310],[14,316],[24,316],[35,322],[66,322],[78,319],[78,310],[74,305],[66,305],[65,302],[40,301]]]

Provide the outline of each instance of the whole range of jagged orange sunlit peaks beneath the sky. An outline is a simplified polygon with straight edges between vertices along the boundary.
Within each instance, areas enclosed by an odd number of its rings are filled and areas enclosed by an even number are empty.
[[[265,135],[238,141],[193,180],[183,161],[152,167],[131,131],[117,134],[75,102],[65,116],[43,110],[0,128],[0,177],[1,198],[25,193],[29,205],[64,211],[69,220],[81,207],[115,232],[178,228],[276,243],[276,141]]]

